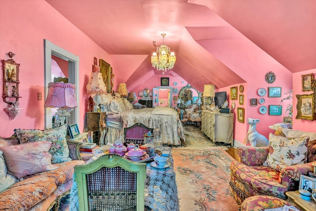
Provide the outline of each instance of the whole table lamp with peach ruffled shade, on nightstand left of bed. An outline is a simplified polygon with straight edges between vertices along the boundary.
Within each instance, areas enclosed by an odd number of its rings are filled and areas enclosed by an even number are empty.
[[[87,92],[90,95],[93,95],[93,102],[95,104],[94,111],[99,111],[100,107],[99,104],[102,103],[102,97],[100,94],[107,93],[107,87],[104,84],[102,73],[91,73],[90,81],[86,86]]]

